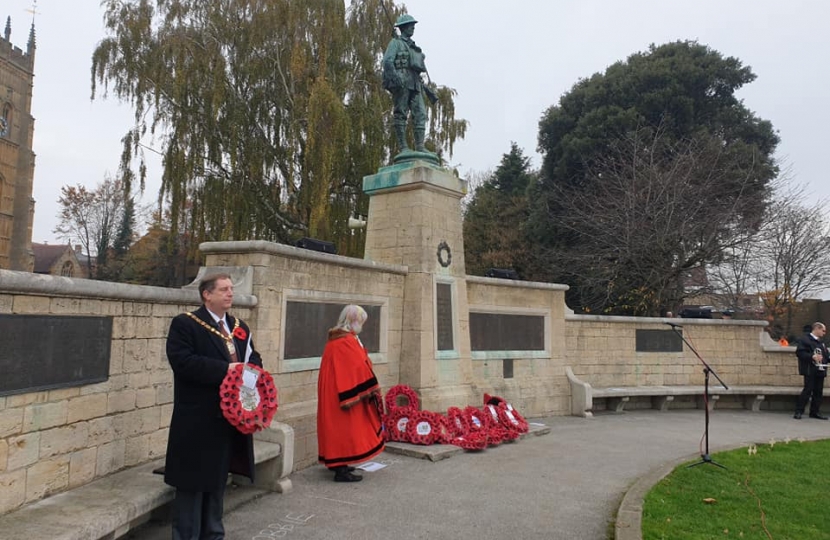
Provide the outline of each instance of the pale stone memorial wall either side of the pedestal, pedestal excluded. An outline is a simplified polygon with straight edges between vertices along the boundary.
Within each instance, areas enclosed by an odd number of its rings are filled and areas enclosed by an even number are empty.
[[[233,312],[250,324],[265,367],[274,375],[277,420],[295,430],[297,468],[316,462],[317,351],[342,305],[358,303],[372,316],[366,341],[383,388],[412,383],[400,365],[405,267],[266,242],[205,244],[203,251],[209,268],[245,275],[240,280],[235,276]],[[463,402],[453,404],[480,405],[487,392],[505,397],[527,416],[569,414],[565,366],[597,386],[702,384],[689,351],[636,350],[637,331],[667,328],[661,319],[573,315],[561,285],[466,276],[465,287],[460,294],[466,296],[469,327],[450,325],[456,341],[459,332],[470,334],[471,367],[454,378],[466,378],[471,390]],[[7,352],[0,368],[4,374],[21,374],[4,375],[4,385],[23,375],[33,381],[46,378],[37,372],[50,365],[76,364],[84,374],[93,360],[107,363],[103,381],[72,379],[75,372],[65,369],[69,380],[54,388],[39,388],[37,382],[30,383],[31,391],[4,386],[0,513],[164,456],[173,397],[165,338],[172,317],[195,309],[197,299],[193,288],[0,271],[0,317],[12,320],[18,332],[4,334]],[[31,327],[21,326],[28,317]],[[54,330],[67,318],[76,321],[71,329],[77,336]],[[686,335],[725,380],[799,383],[792,351],[759,343],[762,323],[682,323],[694,325]],[[50,324],[57,341],[45,334]],[[108,358],[86,358],[107,349],[100,339],[91,349],[78,341],[94,339],[91,329],[108,337]],[[505,340],[505,347],[493,345],[494,334]],[[437,352],[437,344],[431,346]],[[51,356],[42,358],[47,353]],[[458,353],[436,354],[439,382],[444,371],[454,370],[454,356]]]

